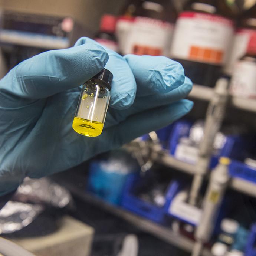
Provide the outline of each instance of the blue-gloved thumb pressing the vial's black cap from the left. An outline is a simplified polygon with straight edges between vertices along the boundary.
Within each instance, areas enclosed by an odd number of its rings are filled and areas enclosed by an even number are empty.
[[[91,42],[68,49],[51,50],[14,67],[1,80],[0,89],[22,98],[46,98],[86,82],[99,73],[107,61],[106,50]],[[16,82],[8,82],[8,79],[15,79]]]

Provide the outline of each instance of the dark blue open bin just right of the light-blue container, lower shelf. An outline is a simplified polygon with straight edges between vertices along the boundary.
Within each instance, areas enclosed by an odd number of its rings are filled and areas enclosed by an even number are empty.
[[[135,195],[136,188],[143,187],[146,183],[147,179],[143,179],[138,175],[132,175],[129,177],[125,184],[121,205],[125,209],[130,210],[142,217],[160,224],[164,224],[166,221],[165,206],[159,207],[153,203],[145,202]],[[172,181],[167,188],[165,204],[170,204],[177,192],[177,181]]]

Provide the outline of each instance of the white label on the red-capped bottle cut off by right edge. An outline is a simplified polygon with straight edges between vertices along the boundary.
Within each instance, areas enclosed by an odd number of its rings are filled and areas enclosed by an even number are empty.
[[[256,99],[256,63],[239,60],[235,64],[230,94],[240,98]]]

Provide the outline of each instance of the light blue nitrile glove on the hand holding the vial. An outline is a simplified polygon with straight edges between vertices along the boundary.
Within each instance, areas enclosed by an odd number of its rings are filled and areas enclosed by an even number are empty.
[[[104,130],[84,137],[72,129],[79,85],[104,66],[114,75]],[[25,60],[0,81],[0,195],[170,124],[192,108],[181,100],[191,87],[177,62],[123,58],[87,38]]]

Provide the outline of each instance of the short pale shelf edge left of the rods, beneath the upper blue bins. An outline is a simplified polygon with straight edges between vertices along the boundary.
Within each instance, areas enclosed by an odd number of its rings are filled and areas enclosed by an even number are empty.
[[[160,151],[154,154],[154,160],[168,167],[175,168],[188,174],[195,174],[195,165],[174,158],[168,152]]]

